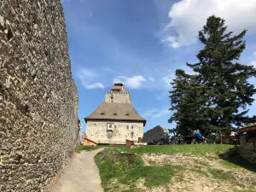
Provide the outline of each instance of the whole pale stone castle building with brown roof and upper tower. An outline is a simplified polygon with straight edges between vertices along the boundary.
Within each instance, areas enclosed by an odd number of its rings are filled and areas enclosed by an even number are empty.
[[[105,102],[84,118],[86,136],[98,144],[125,144],[143,138],[143,119],[131,104],[131,95],[125,84],[117,83],[106,92]]]

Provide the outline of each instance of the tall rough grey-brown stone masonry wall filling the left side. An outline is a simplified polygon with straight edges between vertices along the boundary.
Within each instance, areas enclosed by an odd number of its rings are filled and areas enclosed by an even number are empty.
[[[0,1],[0,94],[0,191],[41,191],[78,138],[61,0]]]

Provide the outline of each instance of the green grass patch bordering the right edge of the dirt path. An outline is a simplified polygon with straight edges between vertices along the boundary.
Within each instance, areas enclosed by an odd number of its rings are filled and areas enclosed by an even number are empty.
[[[105,191],[137,191],[136,183],[140,178],[145,179],[146,187],[165,185],[171,182],[175,172],[184,169],[183,166],[144,166],[139,156],[135,156],[129,163],[128,158],[121,156],[116,148],[103,150],[96,155],[95,160]],[[122,185],[129,189],[119,189]]]

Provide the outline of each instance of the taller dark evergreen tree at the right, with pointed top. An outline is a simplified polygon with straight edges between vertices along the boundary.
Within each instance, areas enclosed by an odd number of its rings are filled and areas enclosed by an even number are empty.
[[[210,16],[207,25],[199,32],[205,48],[201,49],[196,64],[187,64],[198,74],[202,96],[207,97],[207,121],[212,131],[229,131],[232,125],[242,126],[256,121],[247,115],[256,89],[248,79],[256,76],[253,66],[237,62],[246,42],[246,30],[238,35],[227,32],[224,20]]]

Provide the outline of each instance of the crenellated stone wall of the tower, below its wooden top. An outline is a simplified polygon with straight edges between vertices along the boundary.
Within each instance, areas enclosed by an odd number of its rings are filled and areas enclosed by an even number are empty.
[[[105,102],[131,103],[131,95],[126,91],[108,91],[106,92]]]

